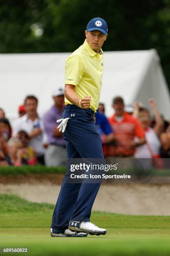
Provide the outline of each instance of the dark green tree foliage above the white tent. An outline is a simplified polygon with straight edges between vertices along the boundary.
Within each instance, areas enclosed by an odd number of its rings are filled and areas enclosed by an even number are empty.
[[[157,49],[170,84],[170,0],[1,0],[0,53],[73,51],[93,17],[108,24],[103,50]]]

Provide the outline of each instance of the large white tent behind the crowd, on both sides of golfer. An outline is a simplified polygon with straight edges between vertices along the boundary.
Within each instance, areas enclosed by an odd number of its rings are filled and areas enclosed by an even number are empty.
[[[42,115],[52,105],[52,89],[64,87],[65,60],[69,53],[0,54],[0,108],[13,121],[26,95],[39,99]],[[170,118],[170,96],[155,50],[105,52],[100,101],[107,116],[113,113],[112,98],[120,95],[126,104],[140,100],[148,107],[153,97],[161,113]]]

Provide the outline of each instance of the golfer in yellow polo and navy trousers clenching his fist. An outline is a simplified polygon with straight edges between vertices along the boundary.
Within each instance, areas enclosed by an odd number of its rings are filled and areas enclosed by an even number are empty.
[[[93,18],[85,30],[85,42],[65,65],[65,108],[59,128],[67,141],[67,158],[103,159],[102,143],[95,125],[103,74],[102,45],[107,23]],[[90,222],[100,183],[62,182],[52,216],[51,236],[104,235],[106,230]]]

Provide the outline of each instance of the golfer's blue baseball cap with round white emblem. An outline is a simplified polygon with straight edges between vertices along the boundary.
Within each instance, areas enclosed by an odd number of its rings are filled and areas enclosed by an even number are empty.
[[[99,30],[101,31],[104,35],[107,35],[107,23],[105,20],[102,18],[93,18],[92,20],[89,21],[87,24],[87,31],[93,31],[93,30]]]

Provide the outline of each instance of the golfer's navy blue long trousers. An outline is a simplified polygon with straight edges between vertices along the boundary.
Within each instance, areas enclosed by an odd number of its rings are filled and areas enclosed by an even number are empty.
[[[100,135],[92,111],[66,105],[62,118],[70,118],[63,133],[67,158],[104,159]],[[52,216],[51,228],[64,230],[69,221],[90,221],[92,205],[101,183],[66,183],[64,177]]]

